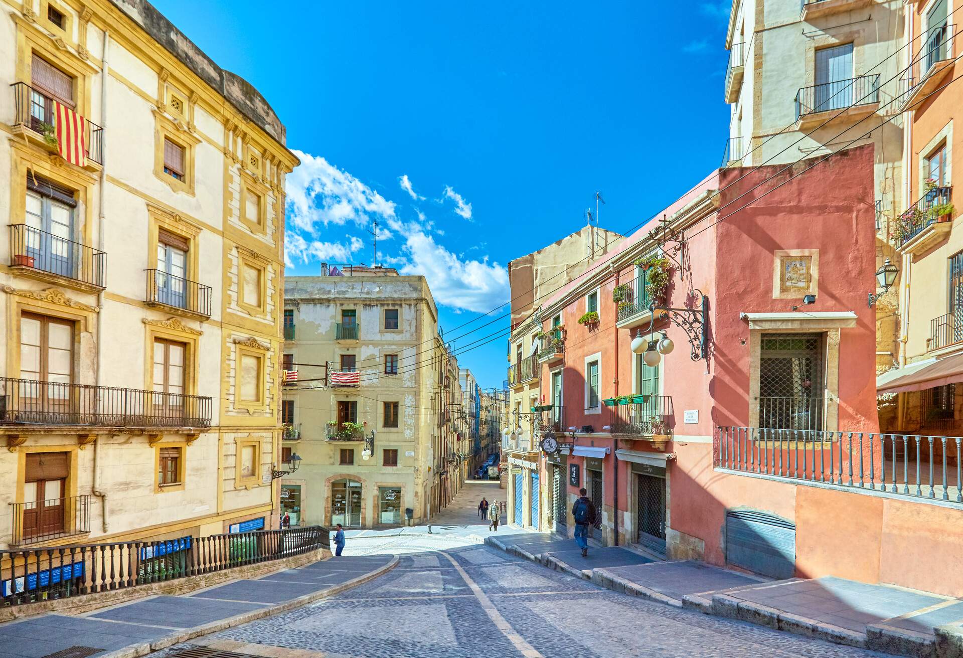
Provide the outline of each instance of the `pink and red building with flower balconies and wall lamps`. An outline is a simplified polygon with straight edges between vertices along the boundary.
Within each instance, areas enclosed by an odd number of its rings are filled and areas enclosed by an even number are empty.
[[[912,522],[960,526],[958,464],[918,494],[919,462],[878,434],[872,161],[716,171],[541,301],[535,437],[561,444],[542,529],[571,536],[586,487],[610,545],[963,594],[911,559],[959,545]]]

